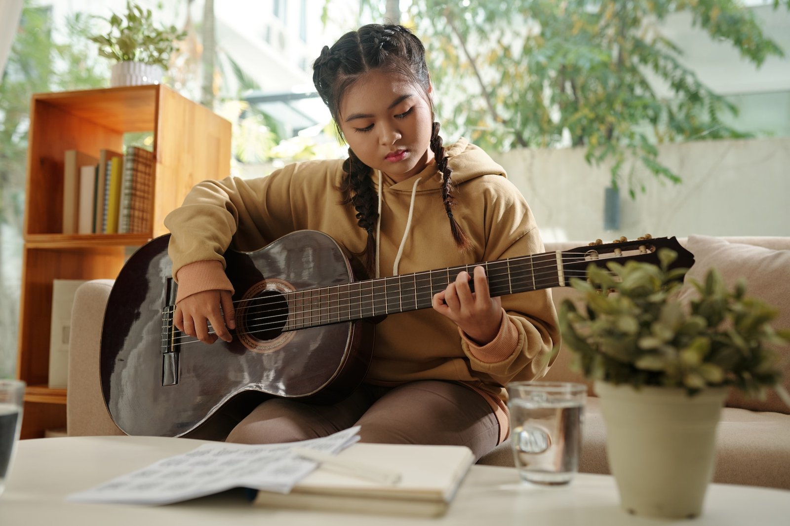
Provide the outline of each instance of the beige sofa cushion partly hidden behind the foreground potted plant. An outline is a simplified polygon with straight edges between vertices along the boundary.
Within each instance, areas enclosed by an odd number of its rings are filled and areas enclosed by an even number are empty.
[[[686,280],[705,281],[712,267],[718,269],[728,287],[743,278],[747,282],[747,295],[762,299],[778,310],[772,322],[774,329],[790,329],[790,250],[770,250],[762,246],[728,242],[705,235],[690,235],[686,247],[694,254],[694,265],[686,274]],[[689,301],[698,297],[690,284],[685,284],[679,299]],[[780,366],[784,370],[784,387],[790,389],[790,348],[780,349]],[[776,393],[770,391],[766,400],[747,398],[732,389],[727,400],[728,407],[753,411],[777,411],[790,414]]]

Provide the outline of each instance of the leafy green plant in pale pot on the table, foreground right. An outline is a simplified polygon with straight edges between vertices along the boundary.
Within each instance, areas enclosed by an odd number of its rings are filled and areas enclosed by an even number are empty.
[[[669,269],[672,250],[658,256],[660,265],[590,265],[588,280],[571,281],[583,304],[562,302],[560,328],[595,381],[623,509],[696,517],[728,388],[754,396],[774,388],[790,404],[772,347],[790,343],[790,331],[774,331],[775,311],[747,297],[743,282],[729,291],[716,269],[704,284],[690,280],[698,299],[680,302],[687,269]]]

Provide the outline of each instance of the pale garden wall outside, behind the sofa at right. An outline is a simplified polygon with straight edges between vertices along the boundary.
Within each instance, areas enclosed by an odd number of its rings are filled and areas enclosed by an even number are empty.
[[[524,193],[544,240],[790,235],[790,138],[661,146],[661,162],[683,182],[660,182],[637,166],[634,176],[646,190],[635,200],[621,190],[616,231],[604,231],[608,167],[590,167],[583,149],[520,149],[494,158]]]

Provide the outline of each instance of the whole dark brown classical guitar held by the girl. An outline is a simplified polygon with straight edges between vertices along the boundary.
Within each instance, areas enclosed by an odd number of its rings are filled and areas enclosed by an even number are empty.
[[[110,293],[101,337],[104,401],[126,434],[182,436],[244,396],[331,403],[351,393],[371,360],[371,320],[427,309],[435,292],[474,266],[355,280],[340,246],[318,231],[296,231],[249,253],[228,250],[235,288],[233,341],[207,345],[173,325],[177,285],[169,235],[126,262]],[[565,287],[587,265],[634,259],[657,263],[657,250],[694,257],[675,238],[639,239],[482,263],[492,296]],[[358,273],[359,275],[359,273]]]

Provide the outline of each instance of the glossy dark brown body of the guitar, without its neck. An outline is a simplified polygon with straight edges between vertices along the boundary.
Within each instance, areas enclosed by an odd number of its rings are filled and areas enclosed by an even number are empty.
[[[281,330],[291,309],[285,293],[354,280],[337,242],[297,231],[256,252],[228,250],[237,329],[231,343],[207,345],[172,328],[177,285],[169,239],[154,239],[130,257],[104,316],[102,392],[126,434],[182,436],[249,393],[333,403],[359,385],[373,348],[370,322]],[[260,319],[273,324],[260,330]]]

